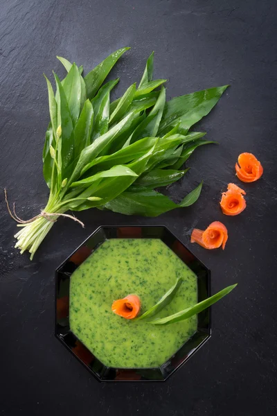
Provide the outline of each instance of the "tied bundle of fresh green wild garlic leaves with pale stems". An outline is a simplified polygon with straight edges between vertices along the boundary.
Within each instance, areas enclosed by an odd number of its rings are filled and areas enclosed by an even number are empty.
[[[127,49],[111,53],[84,78],[82,66],[58,57],[68,73],[62,81],[54,73],[55,94],[45,77],[51,121],[43,171],[50,196],[44,214],[21,223],[15,235],[16,247],[28,250],[31,259],[58,218],[53,214],[96,207],[158,216],[199,197],[202,184],[179,204],[154,189],[183,177],[188,169],[179,169],[193,150],[212,143],[201,140],[205,133],[188,130],[211,111],[228,85],[166,102],[166,80],[152,80],[152,53],[139,85],[132,84],[110,103],[118,78],[102,83]]]

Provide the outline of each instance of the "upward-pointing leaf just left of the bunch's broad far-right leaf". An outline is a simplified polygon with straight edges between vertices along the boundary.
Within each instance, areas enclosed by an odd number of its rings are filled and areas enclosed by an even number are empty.
[[[159,123],[161,121],[161,116],[163,115],[163,107],[165,103],[166,89],[162,87],[157,102],[150,111],[150,114],[146,117],[145,120],[142,121],[136,130],[134,130],[131,138],[131,143],[134,143],[134,141],[142,139],[143,137],[156,136],[159,129]]]

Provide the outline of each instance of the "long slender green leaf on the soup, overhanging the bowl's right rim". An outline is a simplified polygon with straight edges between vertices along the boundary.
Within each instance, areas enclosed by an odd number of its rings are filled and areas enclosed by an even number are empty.
[[[175,322],[181,322],[183,320],[186,320],[191,316],[204,311],[204,309],[207,309],[209,306],[215,304],[215,302],[222,299],[222,297],[228,295],[228,293],[233,291],[235,286],[237,286],[237,284],[233,284],[232,286],[224,288],[222,291],[216,293],[215,295],[208,297],[208,299],[203,300],[202,302],[199,302],[193,306],[190,306],[190,308],[184,309],[184,311],[177,312],[174,315],[167,316],[166,318],[152,320],[149,323],[154,325],[168,325],[173,324]]]

